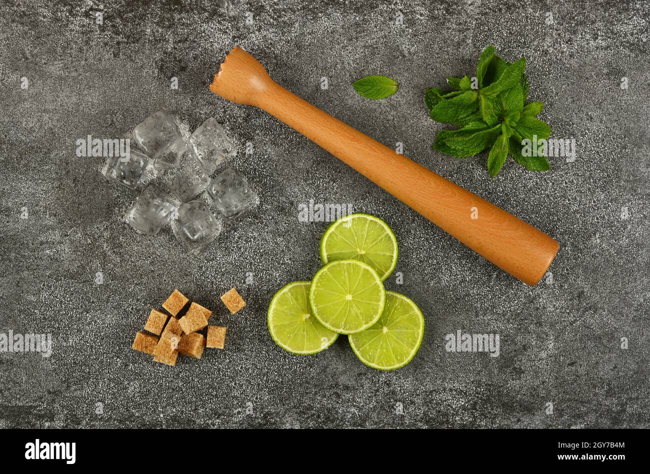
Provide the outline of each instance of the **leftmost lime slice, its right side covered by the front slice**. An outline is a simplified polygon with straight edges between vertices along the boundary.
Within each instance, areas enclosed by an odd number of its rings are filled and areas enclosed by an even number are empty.
[[[316,321],[309,308],[311,282],[291,282],[268,305],[268,332],[292,354],[316,354],[339,337]]]

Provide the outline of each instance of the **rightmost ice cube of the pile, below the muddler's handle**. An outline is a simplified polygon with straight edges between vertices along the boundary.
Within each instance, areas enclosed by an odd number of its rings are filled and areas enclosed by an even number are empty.
[[[226,218],[235,218],[259,204],[259,199],[250,191],[246,178],[233,168],[227,168],[216,176],[207,193],[214,207]]]

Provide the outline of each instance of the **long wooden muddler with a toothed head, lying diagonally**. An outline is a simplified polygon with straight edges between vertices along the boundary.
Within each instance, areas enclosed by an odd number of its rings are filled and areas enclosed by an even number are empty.
[[[530,224],[295,96],[240,47],[227,55],[210,90],[272,114],[528,285],[539,282],[558,252],[558,243]]]

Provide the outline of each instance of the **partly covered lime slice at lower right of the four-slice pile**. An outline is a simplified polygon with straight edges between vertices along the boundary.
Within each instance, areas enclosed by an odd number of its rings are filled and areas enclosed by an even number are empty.
[[[361,362],[391,371],[411,362],[422,343],[424,317],[417,305],[395,291],[386,292],[382,316],[370,328],[348,337]]]

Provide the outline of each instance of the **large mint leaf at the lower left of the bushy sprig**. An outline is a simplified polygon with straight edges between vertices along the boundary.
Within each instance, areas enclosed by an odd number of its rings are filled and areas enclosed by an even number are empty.
[[[441,146],[436,150],[458,158],[471,157],[489,148],[499,135],[499,131],[500,125],[490,127],[485,122],[472,122],[460,130],[442,130],[435,137],[436,142],[438,140],[441,142]]]

